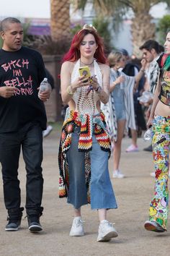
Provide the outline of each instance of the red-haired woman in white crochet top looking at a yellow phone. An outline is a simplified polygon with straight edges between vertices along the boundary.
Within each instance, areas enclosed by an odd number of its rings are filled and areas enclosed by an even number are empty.
[[[116,237],[107,221],[107,209],[117,208],[109,179],[110,139],[100,103],[109,100],[109,67],[105,64],[102,38],[91,25],[74,35],[63,57],[61,96],[68,104],[59,149],[60,197],[68,197],[74,208],[70,236],[84,236],[81,206],[91,202],[98,210],[98,242]],[[79,74],[86,66],[90,77]]]

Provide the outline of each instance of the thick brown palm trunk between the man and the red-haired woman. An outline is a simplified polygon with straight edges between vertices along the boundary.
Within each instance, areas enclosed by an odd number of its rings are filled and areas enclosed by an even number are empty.
[[[70,1],[50,0],[50,30],[54,42],[70,37]]]

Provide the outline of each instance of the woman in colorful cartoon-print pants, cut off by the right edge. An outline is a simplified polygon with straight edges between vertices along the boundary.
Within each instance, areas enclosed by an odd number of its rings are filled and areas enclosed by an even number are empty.
[[[158,58],[159,77],[153,98],[148,127],[152,127],[153,162],[156,181],[154,196],[150,203],[148,231],[167,230],[169,205],[169,152],[170,152],[170,30],[164,43],[166,54]]]

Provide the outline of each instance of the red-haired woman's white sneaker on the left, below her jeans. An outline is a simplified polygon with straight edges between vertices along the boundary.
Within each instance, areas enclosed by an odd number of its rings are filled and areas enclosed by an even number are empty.
[[[81,217],[73,218],[73,223],[71,226],[70,236],[84,236],[84,221],[82,221]]]

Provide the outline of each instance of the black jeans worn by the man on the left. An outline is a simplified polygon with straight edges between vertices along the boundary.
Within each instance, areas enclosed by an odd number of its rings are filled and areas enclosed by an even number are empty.
[[[42,129],[37,123],[27,123],[18,132],[0,134],[0,161],[6,209],[19,208],[21,203],[18,167],[22,148],[27,171],[26,209],[42,211]]]

